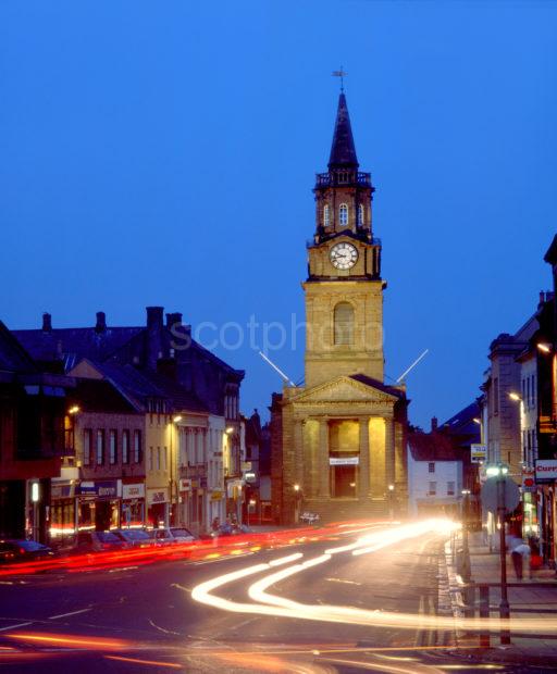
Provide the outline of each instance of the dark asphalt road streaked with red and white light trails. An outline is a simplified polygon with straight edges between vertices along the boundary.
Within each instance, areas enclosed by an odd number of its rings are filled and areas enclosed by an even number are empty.
[[[198,562],[0,578],[0,666],[79,674],[481,667],[451,651],[450,633],[419,625],[437,609],[444,539],[429,533],[355,556],[350,545],[361,535]],[[283,570],[290,575],[271,577]],[[269,587],[253,588],[265,578]],[[356,611],[338,617],[338,607]],[[408,614],[403,628],[397,615]]]

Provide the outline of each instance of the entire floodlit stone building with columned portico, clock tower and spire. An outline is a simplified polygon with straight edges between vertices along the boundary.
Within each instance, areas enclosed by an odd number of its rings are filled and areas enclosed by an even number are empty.
[[[407,398],[384,382],[381,242],[344,91],[308,244],[306,378],[271,405],[273,515],[374,517],[406,506]]]

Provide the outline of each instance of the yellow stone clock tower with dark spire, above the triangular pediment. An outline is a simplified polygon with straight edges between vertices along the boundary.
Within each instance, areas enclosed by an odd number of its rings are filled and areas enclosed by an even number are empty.
[[[361,373],[383,380],[381,241],[372,233],[371,175],[359,170],[344,92],[329,171],[318,173],[308,246],[306,385]]]

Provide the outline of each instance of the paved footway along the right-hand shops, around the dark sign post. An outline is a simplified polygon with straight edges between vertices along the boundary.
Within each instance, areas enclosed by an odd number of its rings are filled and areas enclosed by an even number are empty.
[[[461,536],[461,535],[460,535]],[[461,538],[456,541],[456,548],[461,547]],[[456,556],[450,544],[446,546],[446,563],[449,579],[449,592],[453,600],[455,615],[463,615],[466,609],[466,591],[462,579],[457,573]],[[472,584],[499,584],[500,558],[498,550],[490,550],[483,532],[469,535],[470,571]],[[530,571],[524,569],[524,577],[516,577],[510,556],[507,554],[508,601],[511,619],[541,619],[555,621],[557,619],[557,577],[553,569]],[[479,592],[469,598],[474,608],[474,615],[479,615]],[[500,588],[490,587],[490,615],[498,616]],[[511,633],[510,644],[502,644],[497,633],[491,634],[490,648],[481,646],[480,637],[474,633],[456,633],[457,650],[465,647],[469,658],[481,659],[491,663],[524,663],[539,665],[540,671],[557,670],[557,637],[555,634],[544,634],[543,624],[535,636],[523,633]],[[470,647],[476,646],[476,650]]]

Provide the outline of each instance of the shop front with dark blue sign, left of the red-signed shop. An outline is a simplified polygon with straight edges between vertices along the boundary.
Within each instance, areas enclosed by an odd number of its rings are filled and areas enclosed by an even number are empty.
[[[82,482],[77,495],[79,531],[104,532],[120,527],[122,480]]]

